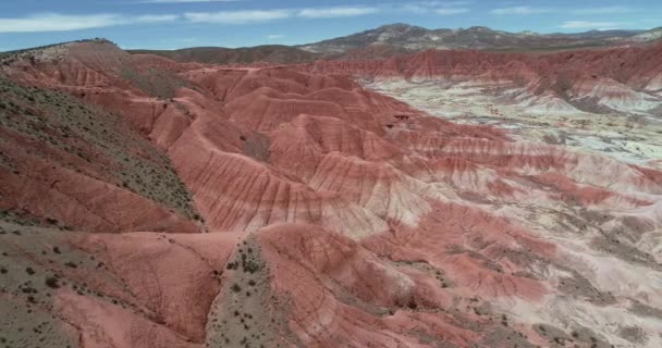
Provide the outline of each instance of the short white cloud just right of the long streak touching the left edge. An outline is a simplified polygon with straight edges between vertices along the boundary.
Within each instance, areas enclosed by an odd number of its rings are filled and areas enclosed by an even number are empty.
[[[221,12],[187,12],[184,18],[193,23],[250,24],[287,18],[290,10],[252,10]]]

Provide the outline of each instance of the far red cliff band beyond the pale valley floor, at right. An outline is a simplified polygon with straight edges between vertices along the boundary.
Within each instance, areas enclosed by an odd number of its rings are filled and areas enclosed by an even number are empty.
[[[583,108],[588,102],[599,110],[650,113],[662,103],[659,96],[650,94],[658,89],[661,61],[662,45],[658,44],[545,54],[428,50],[387,60],[317,61],[302,67],[367,78],[525,87],[517,94],[520,98],[551,96]]]

